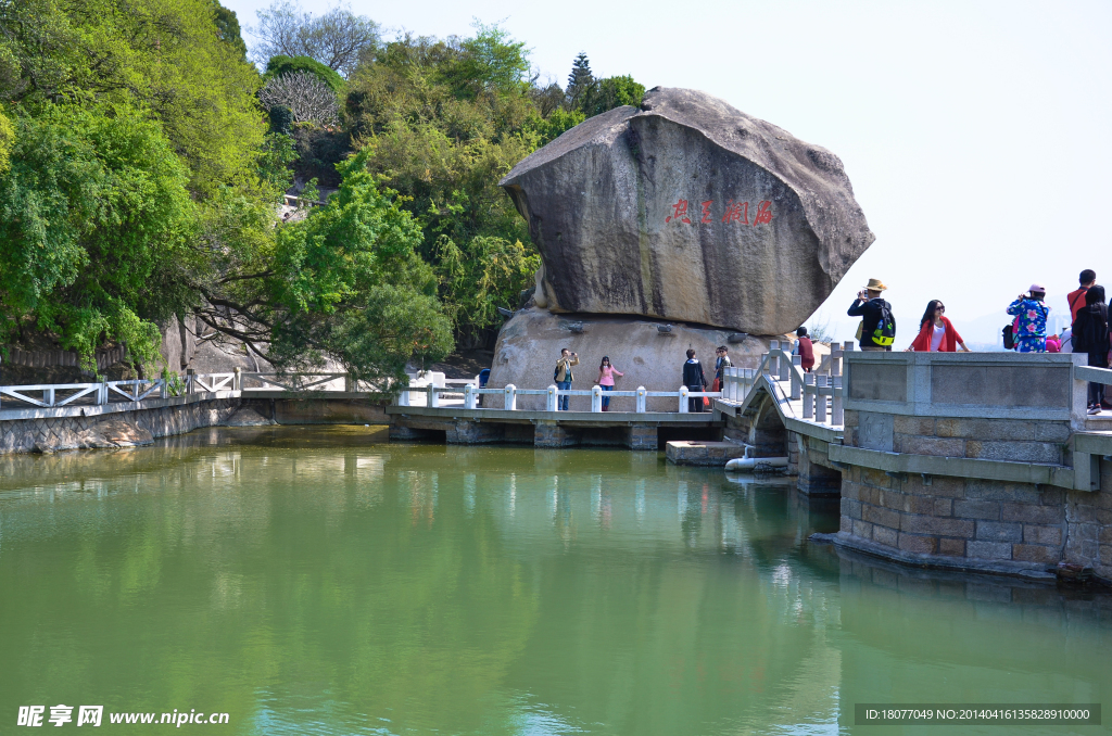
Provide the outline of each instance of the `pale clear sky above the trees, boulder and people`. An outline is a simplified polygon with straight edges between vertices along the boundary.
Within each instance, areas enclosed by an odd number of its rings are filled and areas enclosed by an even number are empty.
[[[270,2],[224,4],[247,27]],[[350,4],[419,34],[500,21],[560,83],[586,51],[596,77],[701,89],[836,153],[876,235],[818,311],[840,339],[870,277],[900,348],[930,299],[959,328],[993,312],[1003,327],[1033,281],[1058,311],[1081,269],[1112,282],[1110,2]]]

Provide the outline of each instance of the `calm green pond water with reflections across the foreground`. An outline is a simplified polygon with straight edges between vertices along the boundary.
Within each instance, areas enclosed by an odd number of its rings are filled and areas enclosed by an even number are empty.
[[[172,726],[109,714],[228,713],[181,727],[214,734],[1108,730],[855,726],[857,703],[1112,704],[1112,603],[807,540],[836,527],[836,501],[654,452],[363,427],[6,456],[0,734],[58,704],[131,733]]]

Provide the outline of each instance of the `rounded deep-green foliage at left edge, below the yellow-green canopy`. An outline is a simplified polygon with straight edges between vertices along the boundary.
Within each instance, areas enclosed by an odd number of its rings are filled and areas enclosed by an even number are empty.
[[[86,365],[105,337],[152,361],[153,320],[181,306],[162,287],[188,260],[186,181],[159,126],[128,108],[59,106],[19,118],[0,177],[4,337],[33,316]]]

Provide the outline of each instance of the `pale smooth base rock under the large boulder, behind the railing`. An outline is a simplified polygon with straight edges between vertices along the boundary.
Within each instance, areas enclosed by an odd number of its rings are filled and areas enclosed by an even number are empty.
[[[572,327],[582,322],[583,331]],[[707,382],[714,380],[714,349],[719,345],[729,348],[735,366],[756,367],[761,354],[767,350],[764,341],[747,337],[743,342],[728,344],[731,332],[712,328],[673,325],[671,332],[657,329],[659,322],[626,316],[576,315],[574,319],[553,315],[544,309],[526,309],[514,315],[498,335],[494,365],[488,388],[503,388],[513,384],[517,388],[543,389],[553,382],[553,369],[560,348],[579,354],[575,368],[576,390],[590,390],[598,378],[598,364],[603,356],[622,372],[616,390],[632,391],[644,386],[651,391],[679,389],[681,371],[687,348],[694,348],[703,362]],[[519,409],[544,409],[543,396],[519,396]],[[485,406],[498,408],[500,398],[489,396]],[[675,411],[676,399],[651,398],[649,411]],[[588,397],[572,397],[573,411],[589,411]],[[614,400],[615,411],[633,411],[634,400]]]

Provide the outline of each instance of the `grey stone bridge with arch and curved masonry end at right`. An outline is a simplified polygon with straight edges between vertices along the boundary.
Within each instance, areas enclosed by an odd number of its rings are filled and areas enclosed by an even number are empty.
[[[797,377],[767,368],[747,371],[744,396],[715,401],[727,440],[787,457],[805,494],[841,496],[836,545],[1112,580],[1112,416],[1085,411],[1086,381],[1112,371],[1052,354],[846,351],[844,362],[840,424],[804,419]]]

